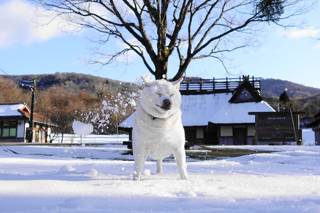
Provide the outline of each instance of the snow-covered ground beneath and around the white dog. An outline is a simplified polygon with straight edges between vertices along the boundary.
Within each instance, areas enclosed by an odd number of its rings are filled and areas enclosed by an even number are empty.
[[[320,212],[320,146],[245,146],[276,152],[188,158],[190,181],[178,180],[172,158],[164,161],[163,174],[156,174],[156,162],[148,159],[136,182],[133,157],[123,155],[129,150],[120,144],[125,140],[0,146],[0,212]]]

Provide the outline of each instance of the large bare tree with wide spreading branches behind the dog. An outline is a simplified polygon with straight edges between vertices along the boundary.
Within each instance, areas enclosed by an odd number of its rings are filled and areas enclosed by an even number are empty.
[[[256,45],[264,23],[280,26],[306,13],[307,0],[29,0],[77,27],[99,33],[97,55],[89,63],[117,62],[129,52],[141,57],[156,79],[167,79],[169,58],[179,58],[172,80],[181,78],[194,59],[213,57]],[[262,24],[261,24],[262,23]],[[101,52],[101,45],[120,40],[124,48]],[[100,50],[100,51],[99,51]],[[225,67],[226,68],[226,67]]]

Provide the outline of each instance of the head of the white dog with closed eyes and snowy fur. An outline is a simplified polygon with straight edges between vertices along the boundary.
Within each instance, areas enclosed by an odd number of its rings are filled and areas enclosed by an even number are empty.
[[[180,108],[181,94],[179,92],[182,78],[169,82],[162,80],[150,80],[150,75],[141,76],[145,82],[140,95],[140,105],[151,116],[156,118],[168,118]]]

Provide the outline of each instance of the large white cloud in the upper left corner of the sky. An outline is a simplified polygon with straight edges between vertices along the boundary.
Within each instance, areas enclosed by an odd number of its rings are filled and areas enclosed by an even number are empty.
[[[54,20],[45,26],[36,24],[34,20],[46,23],[50,18],[36,16],[35,6],[21,0],[0,4],[0,14],[0,48],[42,42],[63,34],[59,30],[60,20]]]

